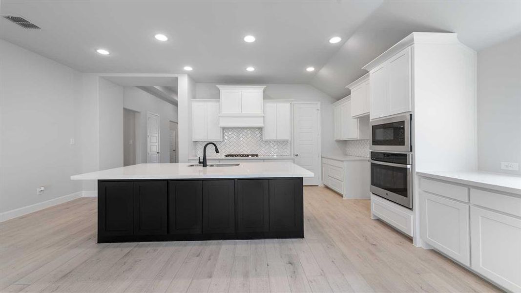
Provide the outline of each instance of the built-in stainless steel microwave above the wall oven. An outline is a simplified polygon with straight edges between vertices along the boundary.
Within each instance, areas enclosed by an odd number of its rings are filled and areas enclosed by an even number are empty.
[[[371,121],[371,150],[411,152],[411,114]]]

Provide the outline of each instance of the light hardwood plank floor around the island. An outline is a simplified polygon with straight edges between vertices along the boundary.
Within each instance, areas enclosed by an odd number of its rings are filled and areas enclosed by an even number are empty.
[[[96,243],[96,198],[0,224],[1,292],[495,292],[369,218],[368,200],[305,187],[305,239]]]

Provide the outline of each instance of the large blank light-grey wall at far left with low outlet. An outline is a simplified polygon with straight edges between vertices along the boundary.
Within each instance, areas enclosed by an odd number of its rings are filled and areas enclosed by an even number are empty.
[[[80,165],[70,139],[81,74],[0,40],[0,76],[0,213],[81,191],[70,180]],[[37,195],[41,185],[46,191]]]

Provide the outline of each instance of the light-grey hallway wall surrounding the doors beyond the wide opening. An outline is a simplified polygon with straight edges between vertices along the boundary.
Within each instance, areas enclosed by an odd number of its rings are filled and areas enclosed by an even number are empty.
[[[137,164],[146,163],[146,113],[152,112],[159,115],[160,133],[159,133],[159,162],[169,163],[169,121],[178,121],[178,110],[177,107],[167,103],[157,97],[146,93],[135,87],[123,88],[123,106],[121,107],[121,113],[123,107],[131,109],[132,111],[140,112],[138,121],[138,137],[136,143],[139,145]],[[121,123],[123,118],[121,118]],[[120,128],[121,136],[123,135],[123,126]],[[119,144],[122,148],[123,142]],[[137,146],[138,146],[137,145]],[[122,149],[121,149],[122,154]]]

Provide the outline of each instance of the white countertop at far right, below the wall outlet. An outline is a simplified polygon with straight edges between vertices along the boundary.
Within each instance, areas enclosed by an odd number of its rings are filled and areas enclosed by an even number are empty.
[[[521,194],[521,176],[482,171],[416,172],[419,176]]]

